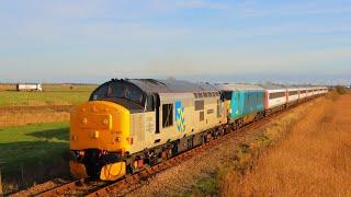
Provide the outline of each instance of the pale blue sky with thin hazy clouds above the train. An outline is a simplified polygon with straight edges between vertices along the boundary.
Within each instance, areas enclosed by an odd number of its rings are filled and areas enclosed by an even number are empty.
[[[0,1],[0,82],[351,78],[351,1]]]

